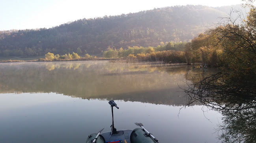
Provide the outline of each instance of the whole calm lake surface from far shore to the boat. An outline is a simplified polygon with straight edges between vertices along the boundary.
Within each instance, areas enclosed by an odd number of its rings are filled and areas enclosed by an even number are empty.
[[[0,143],[83,143],[141,122],[159,143],[216,143],[221,114],[186,103],[185,65],[107,61],[0,63]],[[181,110],[180,110],[181,109]]]

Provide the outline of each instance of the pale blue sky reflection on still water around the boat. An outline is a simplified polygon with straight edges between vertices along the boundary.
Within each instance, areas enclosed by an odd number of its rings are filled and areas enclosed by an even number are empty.
[[[202,106],[180,107],[116,100],[115,127],[135,129],[142,122],[160,143],[215,143],[219,114],[202,114]],[[199,112],[198,112],[199,111]],[[84,143],[99,129],[110,131],[106,100],[81,100],[55,93],[1,94],[0,143]],[[210,119],[208,121],[204,116]]]

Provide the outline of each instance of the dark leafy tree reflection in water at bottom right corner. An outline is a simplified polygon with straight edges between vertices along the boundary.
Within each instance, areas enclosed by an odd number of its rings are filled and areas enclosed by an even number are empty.
[[[255,104],[255,102],[254,102]],[[246,105],[244,105],[246,107]],[[256,109],[222,110],[219,139],[224,143],[256,142]]]

